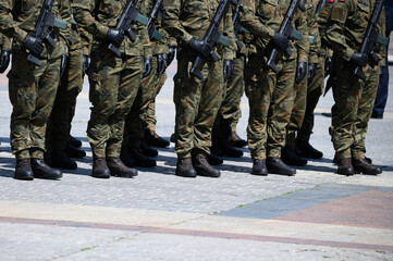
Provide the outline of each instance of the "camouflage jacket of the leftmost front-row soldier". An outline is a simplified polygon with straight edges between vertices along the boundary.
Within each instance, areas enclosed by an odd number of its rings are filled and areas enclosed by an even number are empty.
[[[40,14],[44,0],[1,0],[0,1],[0,32],[7,37],[14,39],[13,49],[20,50],[22,41],[25,37],[33,33],[38,16]],[[60,13],[63,11],[63,4],[60,0],[54,0],[52,7],[52,15],[61,18]],[[62,34],[69,34],[67,29]],[[49,45],[44,45],[45,49],[41,58],[50,55],[50,58],[58,58],[66,52],[64,44],[59,41],[60,29],[54,28],[51,36],[58,41],[57,46],[52,48]]]

